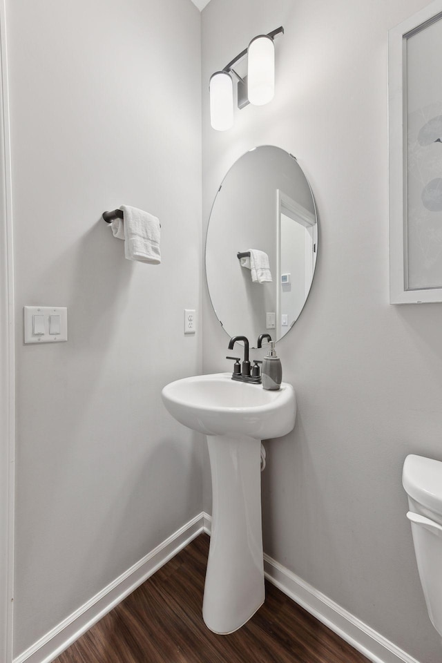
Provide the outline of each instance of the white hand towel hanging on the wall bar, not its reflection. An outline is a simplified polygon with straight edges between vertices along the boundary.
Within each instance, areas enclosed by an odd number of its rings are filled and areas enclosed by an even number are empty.
[[[113,236],[124,240],[124,256],[128,260],[150,262],[159,265],[160,221],[142,209],[122,205],[124,219],[115,219],[112,224]]]

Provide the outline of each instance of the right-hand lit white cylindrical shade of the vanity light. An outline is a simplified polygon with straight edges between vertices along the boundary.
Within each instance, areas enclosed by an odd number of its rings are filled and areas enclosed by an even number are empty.
[[[271,102],[275,94],[275,46],[273,39],[260,35],[247,50],[247,96],[253,106]]]

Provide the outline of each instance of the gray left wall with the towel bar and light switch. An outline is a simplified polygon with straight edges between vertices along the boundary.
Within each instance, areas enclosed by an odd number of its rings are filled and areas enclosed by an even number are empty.
[[[201,369],[200,334],[183,334],[200,302],[200,12],[190,0],[7,12],[18,655],[201,510],[200,440],[160,398]],[[161,265],[125,260],[99,220],[122,203],[160,218]],[[68,307],[68,343],[22,345],[22,307],[38,304]]]

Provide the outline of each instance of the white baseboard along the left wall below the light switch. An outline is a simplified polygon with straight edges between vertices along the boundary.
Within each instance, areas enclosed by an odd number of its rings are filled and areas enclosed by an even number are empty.
[[[14,663],[50,663],[204,530],[204,513],[191,519],[75,613],[23,651]]]

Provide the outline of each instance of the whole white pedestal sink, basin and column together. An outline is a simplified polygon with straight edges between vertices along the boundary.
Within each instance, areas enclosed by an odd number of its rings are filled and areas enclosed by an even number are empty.
[[[211,631],[232,633],[265,599],[260,440],[293,430],[295,392],[217,373],[172,382],[162,398],[177,421],[207,436],[213,507],[202,616]]]

